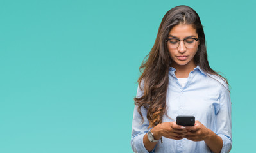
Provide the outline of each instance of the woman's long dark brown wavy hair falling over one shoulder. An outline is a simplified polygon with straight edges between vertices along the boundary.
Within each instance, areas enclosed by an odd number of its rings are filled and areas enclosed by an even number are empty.
[[[203,32],[203,25],[201,24],[198,13],[189,6],[182,5],[172,8],[164,15],[158,29],[155,44],[139,68],[141,77],[139,77],[138,83],[144,94],[141,97],[134,98],[134,101],[135,105],[138,106],[138,112],[141,117],[141,107],[144,106],[148,110],[148,128],[162,123],[162,117],[166,113],[166,94],[169,84],[168,73],[171,66],[171,57],[167,50],[166,39],[169,31],[178,24],[192,25],[198,33],[200,44],[194,56],[194,63],[200,66],[205,73],[217,75],[228,84],[228,81],[224,77],[216,73],[209,66],[205,45],[205,33]],[[143,117],[142,122],[144,122]]]

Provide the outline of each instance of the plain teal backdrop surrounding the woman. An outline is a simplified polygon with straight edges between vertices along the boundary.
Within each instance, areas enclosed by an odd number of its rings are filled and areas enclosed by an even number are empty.
[[[180,4],[228,78],[232,152],[255,150],[255,1],[0,1],[0,152],[132,152],[139,66]]]

